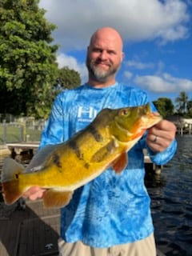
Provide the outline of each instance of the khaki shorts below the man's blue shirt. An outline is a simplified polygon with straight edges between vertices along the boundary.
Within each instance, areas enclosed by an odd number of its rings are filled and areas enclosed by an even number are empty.
[[[109,248],[93,248],[82,242],[69,243],[58,239],[58,256],[156,256],[154,234],[138,242]]]

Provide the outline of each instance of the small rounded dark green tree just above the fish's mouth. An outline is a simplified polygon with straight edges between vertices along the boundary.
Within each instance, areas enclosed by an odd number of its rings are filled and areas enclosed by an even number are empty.
[[[174,114],[174,104],[170,98],[158,98],[158,100],[153,103],[163,118]]]

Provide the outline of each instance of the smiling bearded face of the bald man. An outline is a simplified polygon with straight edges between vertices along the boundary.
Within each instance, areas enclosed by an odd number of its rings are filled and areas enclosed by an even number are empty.
[[[86,66],[90,78],[106,82],[114,78],[122,62],[122,51],[117,40],[102,36],[96,38],[88,47]]]

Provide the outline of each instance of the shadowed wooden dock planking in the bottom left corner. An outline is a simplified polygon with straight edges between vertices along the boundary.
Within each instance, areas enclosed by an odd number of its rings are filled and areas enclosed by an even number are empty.
[[[27,201],[25,209],[3,203],[0,207],[1,256],[58,255],[60,210],[44,209],[41,200]]]

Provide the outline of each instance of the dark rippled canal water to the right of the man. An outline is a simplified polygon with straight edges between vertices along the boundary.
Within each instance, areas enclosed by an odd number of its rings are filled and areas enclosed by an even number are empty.
[[[146,187],[158,248],[166,256],[192,256],[192,135],[177,141],[177,154],[161,175],[147,175]]]

